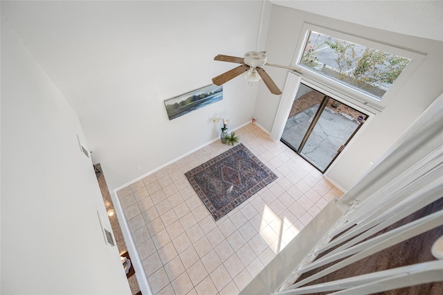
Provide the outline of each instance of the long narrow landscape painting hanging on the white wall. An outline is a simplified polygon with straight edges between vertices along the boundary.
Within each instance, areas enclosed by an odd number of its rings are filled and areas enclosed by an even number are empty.
[[[205,87],[165,100],[170,120],[188,114],[206,105],[223,99],[223,85],[210,84]]]

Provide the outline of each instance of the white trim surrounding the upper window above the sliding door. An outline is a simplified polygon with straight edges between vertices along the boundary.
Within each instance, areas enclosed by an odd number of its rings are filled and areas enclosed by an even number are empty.
[[[329,35],[337,39],[343,39],[348,42],[353,42],[356,44],[367,46],[368,48],[374,48],[386,53],[392,53],[395,55],[406,57],[411,60],[408,66],[406,66],[406,69],[404,69],[404,71],[401,72],[399,78],[395,80],[390,89],[383,96],[382,100],[376,100],[371,96],[369,96],[368,94],[364,93],[363,91],[358,91],[356,89],[346,87],[345,85],[336,82],[332,78],[327,78],[305,67],[302,68],[303,78],[306,78],[307,80],[314,80],[315,82],[321,84],[322,88],[327,89],[329,91],[341,93],[341,96],[343,96],[346,100],[350,99],[350,102],[354,102],[357,105],[361,104],[367,105],[370,107],[370,111],[379,112],[382,109],[384,109],[384,107],[386,107],[387,103],[389,102],[390,98],[395,96],[395,93],[403,86],[406,80],[408,80],[410,74],[413,73],[413,71],[417,68],[418,64],[422,62],[422,60],[426,56],[426,54],[424,53],[410,51],[406,48],[399,48],[397,46],[383,44],[380,42],[376,42],[374,40],[364,39],[363,37],[357,37],[349,33],[343,33],[336,30],[316,26],[314,24],[305,23],[302,26],[300,37],[298,39],[298,43],[296,46],[296,52],[293,57],[292,64],[294,66],[300,67],[297,65],[297,63],[298,60],[300,60],[305,50],[305,44],[307,42],[307,39],[309,38],[309,31],[311,30],[314,30],[315,32],[322,33],[325,35]]]

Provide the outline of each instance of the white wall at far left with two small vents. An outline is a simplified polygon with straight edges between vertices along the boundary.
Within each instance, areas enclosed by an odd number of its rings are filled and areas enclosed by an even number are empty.
[[[130,294],[78,117],[1,22],[1,294]]]

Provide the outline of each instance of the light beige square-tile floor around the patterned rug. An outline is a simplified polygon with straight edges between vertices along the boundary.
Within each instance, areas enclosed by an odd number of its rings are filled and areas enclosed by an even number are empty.
[[[118,191],[154,294],[238,294],[343,193],[255,124],[240,142],[278,179],[215,222],[184,173],[228,150],[219,141]]]

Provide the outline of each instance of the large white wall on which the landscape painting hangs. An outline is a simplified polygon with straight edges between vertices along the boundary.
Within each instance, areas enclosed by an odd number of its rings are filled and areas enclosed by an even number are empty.
[[[224,100],[174,120],[163,101],[237,66],[215,55],[255,50],[261,6],[17,1],[2,11],[77,112],[112,190],[217,138],[213,118],[230,118],[230,128],[251,120],[257,85],[241,77],[224,85]]]

